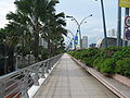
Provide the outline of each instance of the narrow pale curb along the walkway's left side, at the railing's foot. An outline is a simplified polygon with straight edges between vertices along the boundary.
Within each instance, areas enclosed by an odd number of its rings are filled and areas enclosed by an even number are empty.
[[[63,56],[62,56],[63,57]],[[35,95],[39,91],[39,89],[41,88],[41,86],[43,85],[43,83],[48,79],[48,77],[50,76],[50,74],[52,73],[52,71],[55,69],[55,66],[60,63],[62,57],[60,58],[60,60],[53,65],[52,70],[49,71],[49,74],[47,75],[47,77],[43,79],[43,82],[41,83],[41,85],[37,88],[37,90],[35,91],[35,94],[32,96],[29,95],[29,98],[34,98]],[[40,78],[39,78],[40,79]],[[34,88],[32,88],[34,89]]]

